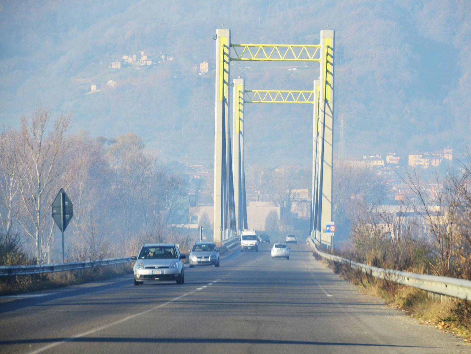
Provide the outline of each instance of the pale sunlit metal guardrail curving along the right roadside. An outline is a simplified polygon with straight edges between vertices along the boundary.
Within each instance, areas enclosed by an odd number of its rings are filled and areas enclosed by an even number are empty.
[[[315,242],[311,238],[308,239],[308,243],[312,250],[319,256],[335,262],[347,263],[352,268],[360,269],[363,273],[371,274],[376,278],[386,279],[388,281],[397,282],[398,284],[412,286],[414,288],[430,291],[440,295],[471,300],[471,281],[469,280],[417,274],[368,266],[363,263],[354,262],[347,258],[321,252],[317,249]]]

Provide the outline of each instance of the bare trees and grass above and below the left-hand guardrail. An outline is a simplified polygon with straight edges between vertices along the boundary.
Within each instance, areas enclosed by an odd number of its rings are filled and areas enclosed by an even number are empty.
[[[187,175],[159,162],[135,134],[70,134],[70,115],[39,106],[21,129],[0,131],[0,265],[30,265],[136,255],[143,243],[196,238],[187,223]],[[64,188],[73,218],[62,240],[50,213]],[[49,254],[48,254],[49,250]],[[0,278],[0,294],[39,290],[130,272],[109,266],[80,272]]]

